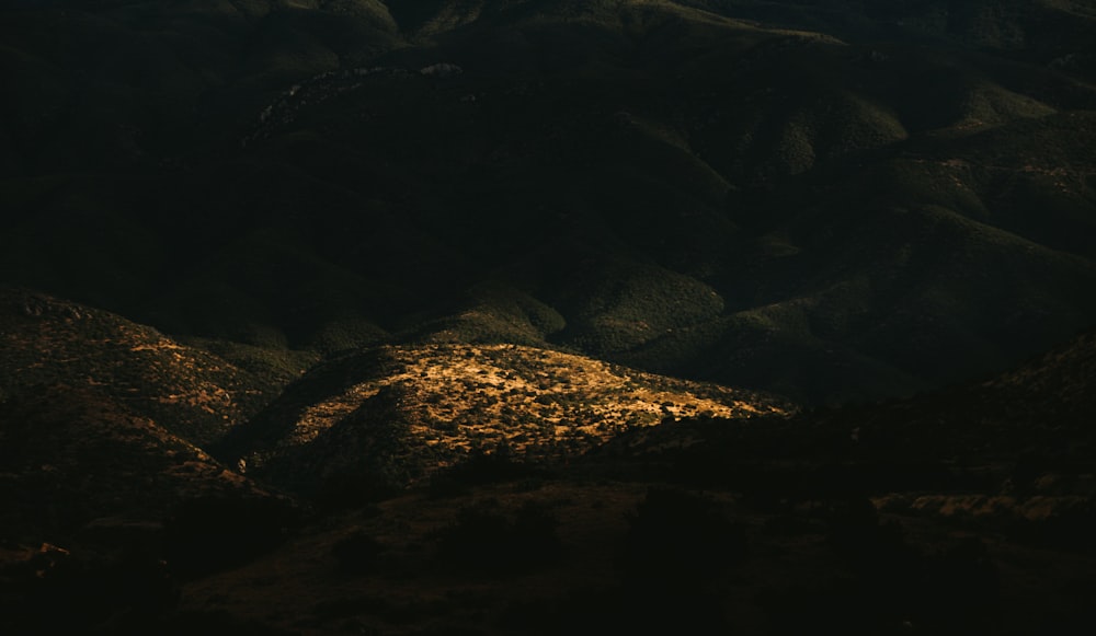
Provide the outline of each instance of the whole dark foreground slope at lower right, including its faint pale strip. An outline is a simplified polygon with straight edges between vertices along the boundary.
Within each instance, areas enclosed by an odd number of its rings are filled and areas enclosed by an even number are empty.
[[[1069,634],[1096,589],[1094,352],[1088,333],[912,400],[666,420],[566,471],[455,473],[460,488],[352,506],[186,585],[181,616],[317,634]]]

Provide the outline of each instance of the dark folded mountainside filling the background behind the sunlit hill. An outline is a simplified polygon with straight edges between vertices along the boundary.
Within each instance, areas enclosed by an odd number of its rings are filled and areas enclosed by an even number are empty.
[[[4,279],[219,352],[564,347],[835,404],[1096,322],[1091,2],[3,12]]]

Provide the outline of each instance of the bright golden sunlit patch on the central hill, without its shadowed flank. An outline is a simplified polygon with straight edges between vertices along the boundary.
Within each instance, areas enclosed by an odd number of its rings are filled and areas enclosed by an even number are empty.
[[[386,386],[400,391],[410,439],[458,453],[501,443],[516,453],[582,452],[666,418],[784,414],[731,389],[533,347],[430,344],[384,352],[395,370],[310,407],[286,441],[315,440]]]

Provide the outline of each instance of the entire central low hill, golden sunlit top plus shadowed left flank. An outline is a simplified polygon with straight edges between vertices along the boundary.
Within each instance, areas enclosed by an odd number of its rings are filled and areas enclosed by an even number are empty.
[[[752,419],[786,401],[515,345],[383,347],[320,365],[218,453],[308,495],[421,483],[470,458],[556,465],[625,430]]]

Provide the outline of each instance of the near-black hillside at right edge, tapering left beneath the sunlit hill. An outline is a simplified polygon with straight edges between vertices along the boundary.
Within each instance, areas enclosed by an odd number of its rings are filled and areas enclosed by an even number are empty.
[[[1094,363],[1096,335],[1088,331],[982,381],[753,426],[694,418],[629,431],[589,459],[661,462],[707,483],[768,481],[757,487],[785,496],[833,488],[1011,497],[1002,513],[1040,496],[1085,504],[1096,492]]]

